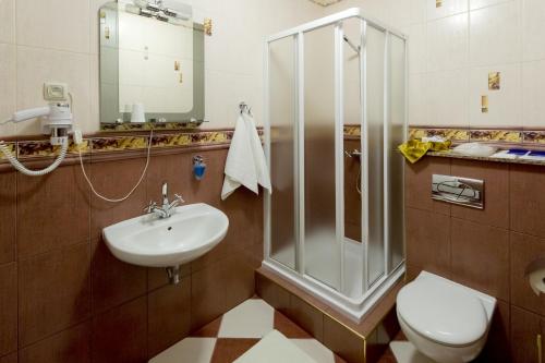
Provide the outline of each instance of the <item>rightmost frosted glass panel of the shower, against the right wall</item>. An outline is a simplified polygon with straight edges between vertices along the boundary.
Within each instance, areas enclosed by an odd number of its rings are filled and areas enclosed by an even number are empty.
[[[389,120],[387,123],[389,141],[389,184],[388,184],[388,226],[390,246],[390,267],[397,267],[404,259],[403,240],[403,165],[404,160],[397,146],[404,141],[405,119],[405,48],[404,40],[390,35],[390,78],[389,78]]]

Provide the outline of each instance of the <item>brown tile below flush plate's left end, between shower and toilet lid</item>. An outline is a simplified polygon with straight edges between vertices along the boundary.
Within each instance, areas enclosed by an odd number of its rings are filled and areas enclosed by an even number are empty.
[[[408,264],[448,278],[450,217],[409,207],[405,220]]]

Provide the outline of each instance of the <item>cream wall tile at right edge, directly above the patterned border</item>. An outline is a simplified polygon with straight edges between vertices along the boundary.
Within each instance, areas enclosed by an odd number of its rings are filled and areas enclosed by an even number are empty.
[[[522,63],[522,123],[525,129],[545,129],[545,60]]]

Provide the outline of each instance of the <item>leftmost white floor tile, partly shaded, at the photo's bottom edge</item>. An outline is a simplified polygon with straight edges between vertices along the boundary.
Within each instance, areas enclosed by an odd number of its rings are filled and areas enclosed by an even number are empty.
[[[210,363],[216,338],[185,338],[149,360],[149,363]]]

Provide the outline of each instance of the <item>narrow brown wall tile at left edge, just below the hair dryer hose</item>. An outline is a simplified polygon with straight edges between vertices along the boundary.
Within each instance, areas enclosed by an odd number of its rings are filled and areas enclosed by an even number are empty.
[[[0,264],[15,261],[16,186],[15,172],[0,173]]]

